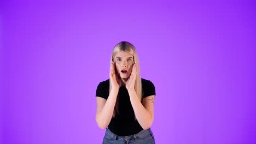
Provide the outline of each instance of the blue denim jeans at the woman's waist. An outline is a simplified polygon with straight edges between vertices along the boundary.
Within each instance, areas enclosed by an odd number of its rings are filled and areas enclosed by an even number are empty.
[[[151,129],[139,131],[138,134],[129,136],[118,136],[109,129],[106,130],[103,144],[155,144],[155,138]]]

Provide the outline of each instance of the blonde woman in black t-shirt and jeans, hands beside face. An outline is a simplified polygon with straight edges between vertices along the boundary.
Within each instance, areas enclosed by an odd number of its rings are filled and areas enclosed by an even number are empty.
[[[121,41],[114,47],[109,76],[96,91],[96,122],[107,128],[103,143],[155,143],[155,87],[141,78],[135,46]]]

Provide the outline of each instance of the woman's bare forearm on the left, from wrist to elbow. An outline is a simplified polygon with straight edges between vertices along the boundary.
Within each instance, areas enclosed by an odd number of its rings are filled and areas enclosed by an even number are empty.
[[[96,115],[96,122],[98,124],[98,127],[100,127],[101,129],[106,129],[111,121],[114,112],[115,102],[117,101],[117,95],[118,89],[112,89],[112,91],[110,91],[109,93],[106,103]]]

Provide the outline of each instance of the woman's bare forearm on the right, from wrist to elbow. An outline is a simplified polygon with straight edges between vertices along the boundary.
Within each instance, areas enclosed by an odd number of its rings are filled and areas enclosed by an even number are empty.
[[[130,95],[131,105],[133,107],[133,111],[135,112],[135,116],[138,120],[138,123],[141,125],[143,129],[150,128],[150,126],[153,123],[153,117],[142,105],[141,101],[137,97],[136,92],[134,90],[128,92]]]

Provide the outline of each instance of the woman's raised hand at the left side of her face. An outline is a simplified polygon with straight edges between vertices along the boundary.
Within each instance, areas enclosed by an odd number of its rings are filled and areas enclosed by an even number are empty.
[[[111,80],[112,88],[119,89],[121,87],[121,79],[117,73],[115,73],[115,64],[112,62],[110,67],[109,77]]]

